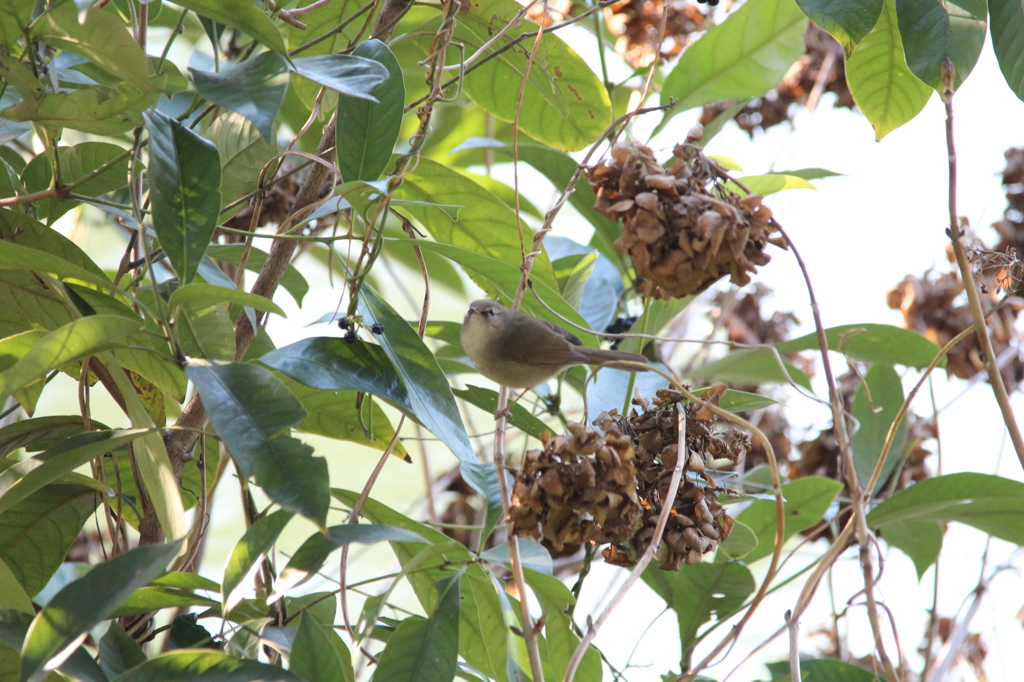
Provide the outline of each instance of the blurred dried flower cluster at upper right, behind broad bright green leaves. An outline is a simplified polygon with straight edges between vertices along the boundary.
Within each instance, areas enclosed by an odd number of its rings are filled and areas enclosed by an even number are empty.
[[[794,104],[813,109],[823,92],[836,93],[836,109],[853,109],[853,95],[846,83],[843,47],[814,24],[804,34],[804,45],[807,51],[785,73],[778,86],[765,96],[753,99],[733,117],[736,125],[752,137],[758,128],[767,130],[792,122]],[[708,125],[732,103],[708,104],[700,115],[700,123]]]

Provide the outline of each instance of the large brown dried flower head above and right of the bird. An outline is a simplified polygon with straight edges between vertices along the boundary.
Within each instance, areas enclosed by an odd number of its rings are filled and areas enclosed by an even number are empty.
[[[698,126],[676,145],[669,170],[633,141],[616,142],[611,160],[587,174],[594,208],[623,223],[615,248],[633,260],[645,296],[697,294],[726,275],[742,286],[771,260],[764,252],[775,231],[771,210],[760,195],[739,197],[725,185],[724,169],[694,144],[701,134]]]

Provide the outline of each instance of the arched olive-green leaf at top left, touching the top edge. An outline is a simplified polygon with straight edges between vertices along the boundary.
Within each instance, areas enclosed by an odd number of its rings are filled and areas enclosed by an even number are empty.
[[[145,52],[112,12],[98,8],[80,12],[73,4],[62,4],[39,17],[32,38],[84,56],[136,88],[152,87]]]

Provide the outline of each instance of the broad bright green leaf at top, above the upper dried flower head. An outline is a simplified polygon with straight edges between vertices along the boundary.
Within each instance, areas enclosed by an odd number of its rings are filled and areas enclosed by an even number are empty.
[[[694,106],[771,90],[804,53],[806,30],[794,0],[748,0],[687,48],[666,77],[662,99],[678,102],[656,130]]]

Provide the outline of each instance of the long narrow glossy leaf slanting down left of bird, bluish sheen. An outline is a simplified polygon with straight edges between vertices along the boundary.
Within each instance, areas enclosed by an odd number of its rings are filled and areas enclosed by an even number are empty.
[[[359,290],[359,314],[367,325],[383,325],[384,333],[378,336],[381,348],[406,384],[410,404],[420,422],[460,460],[475,462],[476,454],[459,416],[452,387],[423,339],[366,284]]]

